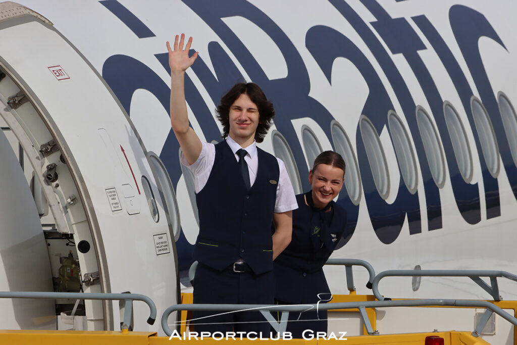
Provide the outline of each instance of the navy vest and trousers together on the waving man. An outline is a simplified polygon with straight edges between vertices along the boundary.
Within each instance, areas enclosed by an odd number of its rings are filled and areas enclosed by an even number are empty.
[[[277,159],[257,148],[258,170],[250,190],[228,144],[216,145],[214,166],[196,201],[200,233],[194,249],[196,304],[273,304],[271,223],[275,210]],[[248,272],[233,264],[246,262]],[[196,332],[263,332],[269,324],[259,311],[193,312]]]

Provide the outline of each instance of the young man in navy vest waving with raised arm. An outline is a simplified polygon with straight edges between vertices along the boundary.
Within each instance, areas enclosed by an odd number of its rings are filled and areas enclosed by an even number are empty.
[[[192,37],[169,42],[171,124],[181,146],[182,163],[195,177],[200,230],[194,259],[194,303],[273,304],[272,261],[291,242],[296,198],[284,163],[256,147],[275,115],[254,83],[238,83],[217,107],[223,140],[202,142],[189,126],[185,71]],[[274,231],[271,235],[271,224]],[[194,312],[197,332],[262,332],[270,326],[259,312]],[[208,318],[206,316],[212,315]],[[199,319],[202,318],[202,319]]]

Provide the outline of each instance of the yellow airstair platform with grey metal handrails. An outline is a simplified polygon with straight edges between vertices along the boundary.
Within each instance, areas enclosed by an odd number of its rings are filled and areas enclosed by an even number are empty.
[[[515,327],[517,326],[517,301],[502,301],[499,295],[498,278],[505,278],[517,281],[517,276],[504,271],[481,271],[481,270],[397,270],[384,271],[375,275],[373,268],[369,263],[362,260],[353,259],[330,259],[329,265],[342,265],[345,267],[346,284],[349,294],[333,295],[332,301],[329,303],[321,303],[314,305],[231,305],[231,304],[193,304],[192,294],[184,293],[181,296],[181,303],[166,308],[161,315],[161,331],[158,332],[133,332],[132,319],[132,303],[133,301],[146,303],[149,307],[149,317],[147,323],[154,324],[157,320],[156,306],[154,302],[147,296],[139,294],[112,294],[112,293],[62,293],[62,292],[0,292],[0,298],[69,298],[69,299],[104,299],[108,301],[120,301],[120,305],[124,304],[124,316],[121,317],[121,325],[119,331],[44,331],[44,330],[0,330],[0,344],[70,344],[70,343],[95,343],[101,344],[193,344],[193,343],[209,343],[216,344],[220,341],[239,341],[239,342],[257,342],[260,343],[278,343],[288,341],[292,344],[422,344],[422,345],[456,345],[456,344],[501,344],[517,345]],[[367,287],[372,289],[373,294],[360,295],[356,294],[354,287],[354,279],[352,266],[363,266],[368,270],[369,280]],[[381,294],[379,291],[379,281],[385,277],[465,277],[474,281],[485,292],[492,296],[492,299],[486,300],[469,300],[469,299],[418,299],[418,298],[397,298],[391,299]],[[484,279],[482,279],[484,278]],[[486,279],[490,280],[490,284]],[[293,339],[290,333],[286,332],[288,314],[290,312],[302,312],[309,308],[320,308],[328,310],[329,329],[325,333],[307,332],[303,339]],[[196,333],[195,329],[191,329],[190,320],[193,310],[213,310],[220,312],[236,312],[244,309],[260,310],[265,321],[269,322],[272,333],[269,335],[257,335],[254,332],[236,334],[220,333],[207,335]],[[397,308],[406,308],[416,313],[406,312],[406,317],[401,318],[400,313],[393,313],[397,318],[396,323],[408,325],[404,332],[378,331],[379,320],[384,322],[390,318],[391,310]],[[481,310],[479,317],[473,324],[473,329],[434,329],[431,332],[421,332],[411,329],[412,318],[418,315],[418,312],[425,310],[440,309],[445,314],[456,309],[465,310]],[[171,323],[169,316],[178,312],[180,317],[177,322]],[[382,316],[379,316],[382,313]],[[336,315],[346,314],[347,318],[336,318]],[[273,317],[279,316],[278,318]],[[496,316],[498,319],[507,323],[510,332],[507,333],[506,339],[500,342],[489,342],[483,339],[485,327],[489,324],[491,318]],[[360,320],[360,329],[358,334],[348,332],[346,327],[340,327],[336,320],[352,320],[354,317]],[[334,320],[335,319],[335,320]],[[448,320],[454,320],[449,317]],[[332,326],[331,326],[332,325]],[[336,327],[338,325],[338,327]],[[138,328],[138,327],[136,327]],[[138,329],[137,329],[138,331]],[[357,330],[356,330],[357,331]],[[165,334],[166,336],[163,336]],[[494,338],[495,339],[495,338]],[[267,344],[266,344],[267,345]]]

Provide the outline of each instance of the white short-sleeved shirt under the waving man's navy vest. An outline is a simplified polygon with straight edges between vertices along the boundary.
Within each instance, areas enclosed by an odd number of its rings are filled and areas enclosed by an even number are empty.
[[[226,143],[232,149],[232,152],[235,156],[235,159],[239,161],[239,156],[237,155],[237,150],[239,148],[244,148],[248,154],[244,157],[246,163],[248,164],[248,170],[250,173],[250,186],[253,186],[257,176],[258,170],[258,156],[257,156],[257,147],[255,141],[248,147],[241,147],[239,144],[235,142],[232,138],[226,138]],[[212,171],[212,167],[214,166],[214,161],[216,159],[216,147],[214,144],[202,142],[203,148],[201,149],[201,154],[197,158],[197,160],[189,166],[187,159],[181,154],[181,163],[192,171],[194,174],[194,184],[195,184],[195,192],[199,193],[203,187],[205,187],[206,182],[208,181],[208,177],[210,177],[210,172]],[[293,185],[291,184],[291,179],[289,179],[289,175],[287,174],[287,170],[285,169],[284,162],[277,158],[278,167],[280,169],[280,175],[278,178],[277,185],[277,200],[275,203],[275,212],[282,213],[287,211],[292,211],[293,209],[298,208],[298,204],[296,202],[296,196],[294,193]]]

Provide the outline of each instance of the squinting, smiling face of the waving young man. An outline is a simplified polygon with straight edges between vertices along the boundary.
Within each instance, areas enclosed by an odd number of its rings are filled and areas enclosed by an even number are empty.
[[[247,147],[255,138],[260,115],[258,107],[248,97],[241,94],[230,107],[230,137],[242,147]]]

